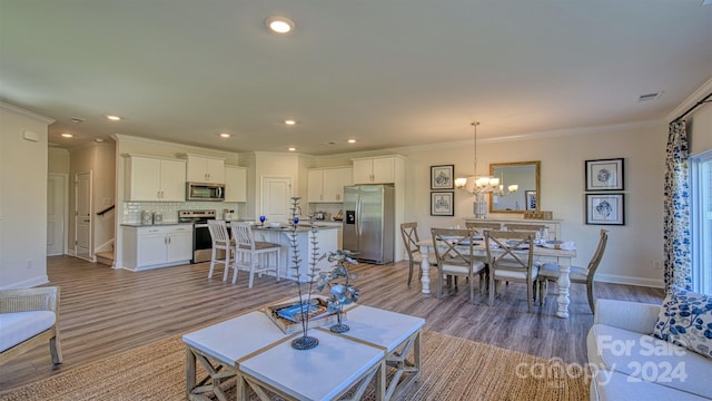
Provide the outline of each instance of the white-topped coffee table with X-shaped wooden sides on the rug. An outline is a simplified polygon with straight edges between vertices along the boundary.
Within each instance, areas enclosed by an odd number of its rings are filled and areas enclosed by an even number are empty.
[[[284,334],[264,312],[251,312],[184,335],[186,351],[186,391],[191,400],[214,391],[227,400],[219,384],[237,376],[238,399],[250,387],[261,399],[267,391],[287,399],[330,400],[342,397],[356,383],[353,398],[358,399],[376,378],[376,399],[398,395],[418,375],[421,338],[425,321],[369,306],[348,310],[352,330],[336,334],[328,327],[310,330],[319,340],[313,350],[294,350],[290,341],[300,335]],[[413,348],[413,361],[406,355]],[[196,380],[196,361],[208,376]],[[386,365],[396,369],[386,389]],[[406,374],[404,380],[400,378]]]

